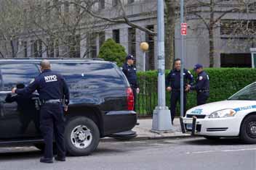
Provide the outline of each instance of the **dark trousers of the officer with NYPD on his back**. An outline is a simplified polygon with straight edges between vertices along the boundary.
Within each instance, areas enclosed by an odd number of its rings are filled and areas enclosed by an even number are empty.
[[[46,103],[41,106],[40,129],[44,137],[44,158],[52,158],[53,135],[57,144],[57,156],[65,157],[65,118],[60,103]]]

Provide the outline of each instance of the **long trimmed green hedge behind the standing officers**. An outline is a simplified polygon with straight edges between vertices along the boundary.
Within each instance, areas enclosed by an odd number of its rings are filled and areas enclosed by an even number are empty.
[[[249,68],[209,68],[204,69],[210,79],[209,102],[222,101],[233,93],[256,81],[256,69]],[[192,71],[191,71],[192,72]],[[169,70],[166,70],[166,75]],[[192,72],[195,80],[196,75]],[[140,116],[151,116],[157,105],[157,72],[138,72],[140,95],[137,96],[136,110]],[[167,95],[167,106],[170,106],[170,93]],[[187,109],[196,106],[196,93],[188,93]],[[178,112],[179,113],[179,106]]]

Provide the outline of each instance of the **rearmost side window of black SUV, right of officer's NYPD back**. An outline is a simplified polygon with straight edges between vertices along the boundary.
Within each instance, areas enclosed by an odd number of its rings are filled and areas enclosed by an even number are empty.
[[[113,64],[52,63],[52,70],[65,77],[71,89],[124,87],[124,80]]]

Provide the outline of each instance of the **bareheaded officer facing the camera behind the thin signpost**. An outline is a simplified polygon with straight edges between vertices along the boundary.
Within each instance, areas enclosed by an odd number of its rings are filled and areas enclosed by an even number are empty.
[[[172,94],[171,94],[172,124],[173,124],[173,120],[175,119],[177,101],[180,101],[180,66],[181,66],[180,59],[175,59],[175,66],[174,66],[175,68],[169,72],[169,74],[167,75],[167,80],[166,80],[167,91],[172,92]],[[183,76],[184,76],[184,90],[185,90],[186,85],[192,85],[193,75],[191,75],[191,72],[189,72],[187,69],[184,69]],[[186,103],[187,103],[186,92],[187,91],[185,91],[185,93],[184,93],[183,116],[185,116],[185,111],[186,111]]]

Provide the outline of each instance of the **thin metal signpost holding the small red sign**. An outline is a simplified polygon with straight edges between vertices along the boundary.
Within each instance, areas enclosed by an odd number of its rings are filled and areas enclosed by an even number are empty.
[[[184,22],[184,0],[180,0],[180,30],[182,24]],[[181,35],[181,68],[180,68],[180,116],[184,113],[184,76],[183,76],[183,69],[184,69],[184,35]]]

